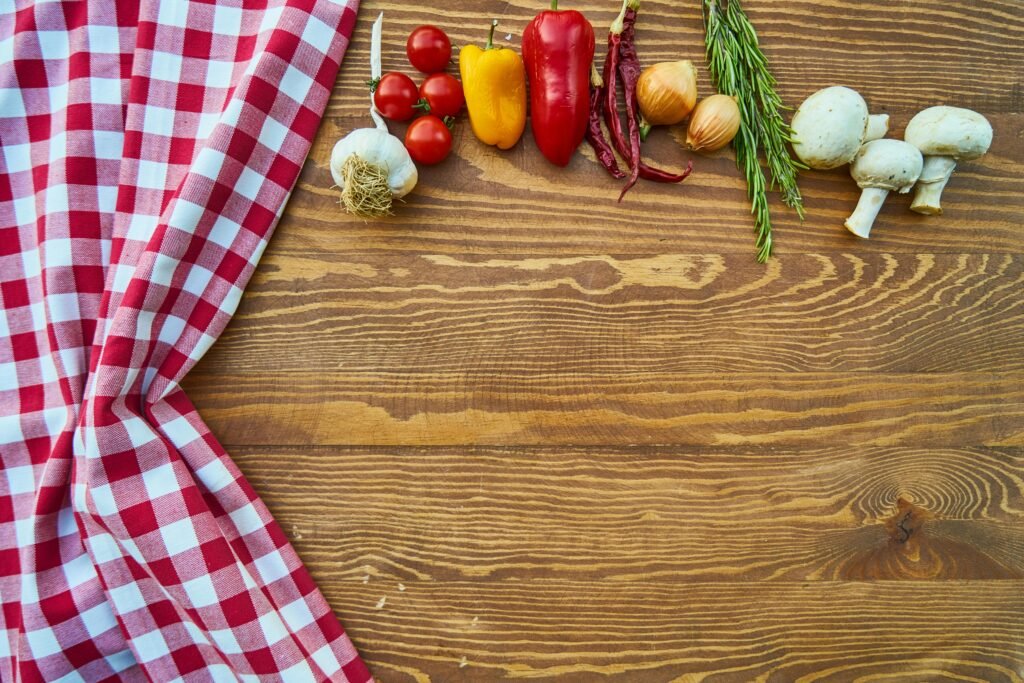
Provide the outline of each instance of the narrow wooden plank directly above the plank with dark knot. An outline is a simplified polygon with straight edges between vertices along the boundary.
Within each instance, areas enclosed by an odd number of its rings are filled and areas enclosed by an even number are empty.
[[[1024,445],[1024,373],[197,374],[228,445]]]

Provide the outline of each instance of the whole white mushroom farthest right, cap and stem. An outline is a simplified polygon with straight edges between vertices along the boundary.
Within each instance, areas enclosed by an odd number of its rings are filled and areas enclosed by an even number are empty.
[[[910,120],[903,139],[925,155],[925,169],[910,210],[935,216],[942,213],[942,190],[956,162],[971,161],[988,152],[992,125],[971,110],[932,106]]]

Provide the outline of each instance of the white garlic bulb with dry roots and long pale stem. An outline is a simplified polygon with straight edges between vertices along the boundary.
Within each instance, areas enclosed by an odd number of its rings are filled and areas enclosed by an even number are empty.
[[[374,23],[370,68],[379,79],[381,33],[384,13]],[[413,190],[419,179],[416,164],[406,145],[388,132],[387,124],[373,105],[370,116],[376,128],[353,130],[331,151],[331,176],[341,189],[341,203],[356,216],[377,218],[391,213],[391,204]]]

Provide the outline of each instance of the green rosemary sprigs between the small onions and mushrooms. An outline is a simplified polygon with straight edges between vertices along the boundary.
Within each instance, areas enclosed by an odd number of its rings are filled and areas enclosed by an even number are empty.
[[[735,95],[741,124],[732,145],[736,166],[746,176],[755,230],[758,234],[758,261],[764,263],[772,253],[771,212],[768,209],[768,181],[758,159],[764,150],[771,188],[782,194],[782,201],[804,217],[804,200],[797,186],[797,174],[806,168],[786,148],[793,130],[782,119],[785,109],[775,91],[775,77],[758,44],[758,35],[746,18],[739,0],[700,0],[705,23],[708,71],[718,91]]]

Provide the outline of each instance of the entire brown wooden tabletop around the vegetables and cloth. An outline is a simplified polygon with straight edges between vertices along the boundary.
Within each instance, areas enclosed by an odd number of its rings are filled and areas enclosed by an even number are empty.
[[[565,0],[563,0],[564,2]],[[748,0],[793,104],[860,90],[901,135],[938,103],[992,151],[946,214],[843,228],[845,170],[774,201],[754,260],[730,151],[683,186],[549,166],[462,122],[393,219],[328,159],[435,23],[518,47],[540,1],[367,1],[319,136],[187,389],[381,681],[1024,679],[1024,5]],[[616,2],[584,9],[603,45]],[[644,0],[644,63],[697,0]],[[600,51],[600,48],[599,48]],[[603,58],[603,54],[600,55]],[[398,128],[395,128],[398,130]],[[659,131],[650,158],[687,155]]]

